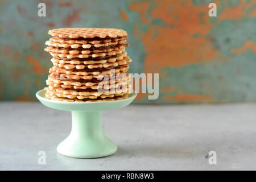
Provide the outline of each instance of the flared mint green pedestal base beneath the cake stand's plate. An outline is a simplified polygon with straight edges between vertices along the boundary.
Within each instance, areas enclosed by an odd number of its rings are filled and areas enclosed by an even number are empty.
[[[72,111],[71,133],[57,151],[73,158],[98,158],[114,154],[117,146],[104,134],[102,111]]]

